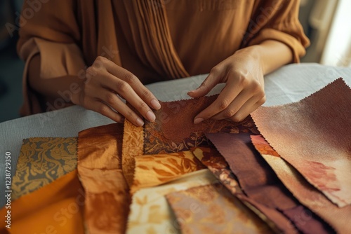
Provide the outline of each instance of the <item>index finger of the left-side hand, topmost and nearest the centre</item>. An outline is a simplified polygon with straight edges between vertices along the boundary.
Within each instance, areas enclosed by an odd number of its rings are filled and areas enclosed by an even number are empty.
[[[107,71],[120,78],[122,81],[125,81],[135,91],[135,93],[143,99],[143,101],[148,105],[151,106],[153,109],[160,109],[161,105],[156,97],[152,94],[150,90],[148,90],[140,80],[134,76],[130,71],[124,69],[123,67],[119,67],[114,62],[108,60],[106,61],[106,69]],[[144,116],[145,117],[145,116]]]

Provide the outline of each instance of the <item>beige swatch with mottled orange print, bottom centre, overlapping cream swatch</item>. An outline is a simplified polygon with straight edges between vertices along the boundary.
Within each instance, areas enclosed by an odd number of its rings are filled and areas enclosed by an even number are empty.
[[[272,233],[221,184],[168,193],[166,198],[182,233]]]

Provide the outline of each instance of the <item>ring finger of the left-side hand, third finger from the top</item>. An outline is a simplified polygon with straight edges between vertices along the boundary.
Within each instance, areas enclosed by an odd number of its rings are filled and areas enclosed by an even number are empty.
[[[132,111],[117,95],[115,95],[110,90],[102,90],[102,91],[100,90],[100,92],[98,92],[96,97],[101,102],[104,102],[106,106],[110,106],[112,109],[114,109],[122,116],[127,118],[128,121],[130,121],[134,125],[140,126],[140,127],[144,125],[144,121],[134,111]],[[103,108],[100,111],[107,112],[107,109],[105,109],[105,107],[102,107],[102,106],[100,107]],[[100,111],[98,112],[101,113]]]

